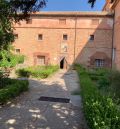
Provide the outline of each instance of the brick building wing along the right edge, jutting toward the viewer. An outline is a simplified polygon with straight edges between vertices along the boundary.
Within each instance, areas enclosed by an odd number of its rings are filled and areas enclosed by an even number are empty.
[[[107,0],[103,10],[114,13],[112,64],[120,70],[120,0]]]

